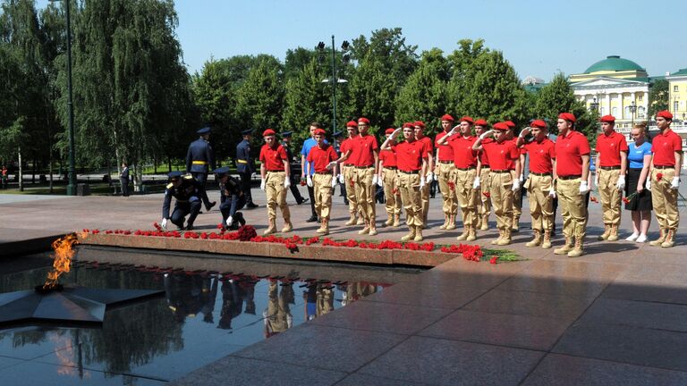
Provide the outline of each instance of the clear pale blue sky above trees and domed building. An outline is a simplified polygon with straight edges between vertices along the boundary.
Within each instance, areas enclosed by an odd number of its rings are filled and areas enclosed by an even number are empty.
[[[38,0],[38,7],[47,0]],[[382,28],[400,27],[418,54],[446,55],[462,38],[485,40],[524,79],[585,71],[620,55],[649,76],[687,68],[687,1],[661,0],[176,0],[176,30],[191,73],[210,58],[275,55],[288,49],[335,46]]]

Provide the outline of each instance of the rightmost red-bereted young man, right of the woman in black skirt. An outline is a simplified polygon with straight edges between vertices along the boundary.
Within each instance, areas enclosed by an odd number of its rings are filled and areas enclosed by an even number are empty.
[[[673,114],[668,111],[656,113],[656,125],[660,133],[651,141],[651,189],[654,213],[661,236],[649,245],[671,248],[675,244],[675,232],[680,223],[677,211],[677,189],[680,187],[680,168],[683,164],[683,141],[670,129]]]

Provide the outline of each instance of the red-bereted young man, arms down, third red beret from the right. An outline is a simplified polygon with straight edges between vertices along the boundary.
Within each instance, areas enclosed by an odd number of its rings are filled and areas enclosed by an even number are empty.
[[[584,254],[584,236],[587,231],[589,191],[589,141],[580,131],[574,130],[577,121],[573,113],[558,115],[556,138],[556,195],[563,215],[565,245],[554,250],[556,255],[578,257]]]

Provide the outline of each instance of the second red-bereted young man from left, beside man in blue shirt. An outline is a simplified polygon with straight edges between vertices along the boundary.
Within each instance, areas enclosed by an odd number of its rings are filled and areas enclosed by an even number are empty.
[[[334,147],[325,143],[325,130],[318,128],[315,130],[315,141],[317,145],[310,148],[308,154],[309,171],[307,173],[307,184],[315,192],[315,211],[318,213],[321,225],[318,233],[329,234],[329,214],[332,208],[332,192],[337,180],[338,166],[336,163],[330,164],[338,158]]]

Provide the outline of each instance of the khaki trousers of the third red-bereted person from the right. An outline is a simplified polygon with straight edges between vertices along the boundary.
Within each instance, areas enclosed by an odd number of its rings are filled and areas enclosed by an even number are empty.
[[[563,215],[565,239],[584,239],[587,230],[587,206],[585,196],[580,194],[580,179],[556,181],[558,206]]]

